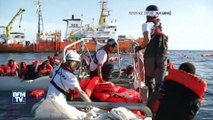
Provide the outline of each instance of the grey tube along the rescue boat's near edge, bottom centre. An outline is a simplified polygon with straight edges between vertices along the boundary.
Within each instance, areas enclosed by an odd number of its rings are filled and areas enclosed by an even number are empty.
[[[68,102],[68,104],[76,107],[76,108],[85,108],[87,106],[94,106],[98,107],[100,109],[112,109],[117,107],[125,107],[129,110],[139,110],[142,111],[146,117],[152,117],[151,110],[141,103],[114,103],[114,102],[91,102],[91,103],[85,103],[85,102]]]

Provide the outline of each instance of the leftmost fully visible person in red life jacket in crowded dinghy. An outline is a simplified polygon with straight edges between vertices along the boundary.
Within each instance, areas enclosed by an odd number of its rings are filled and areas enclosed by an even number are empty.
[[[8,64],[3,67],[5,73],[4,76],[18,76],[18,64],[15,60],[8,60]]]

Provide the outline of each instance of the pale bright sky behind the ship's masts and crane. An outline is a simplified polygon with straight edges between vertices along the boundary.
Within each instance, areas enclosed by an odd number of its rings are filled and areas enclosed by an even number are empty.
[[[61,30],[65,36],[66,22],[74,14],[84,23],[98,24],[100,0],[41,0],[44,28],[47,32]],[[21,28],[19,17],[13,23],[12,31],[24,32],[26,40],[35,41],[38,16],[36,0],[0,0],[0,26],[9,23],[19,8],[25,9]],[[157,5],[163,32],[169,36],[170,50],[213,50],[213,1],[212,0],[108,0],[110,16],[107,21],[117,21],[118,34],[131,38],[143,37],[141,25],[146,22],[144,14],[148,5]],[[136,14],[131,14],[132,12]],[[1,34],[1,33],[0,33]]]

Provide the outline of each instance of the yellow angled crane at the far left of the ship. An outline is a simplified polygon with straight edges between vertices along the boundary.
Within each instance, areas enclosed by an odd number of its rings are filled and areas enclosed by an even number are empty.
[[[20,15],[20,21],[19,21],[19,28],[21,27],[21,21],[22,21],[22,15],[25,12],[25,9],[20,8],[19,11],[15,14],[15,16],[13,16],[13,18],[10,20],[10,22],[8,23],[7,26],[1,26],[1,28],[5,28],[6,30],[6,40],[10,39],[10,33],[12,30],[12,24],[15,21],[15,19]]]

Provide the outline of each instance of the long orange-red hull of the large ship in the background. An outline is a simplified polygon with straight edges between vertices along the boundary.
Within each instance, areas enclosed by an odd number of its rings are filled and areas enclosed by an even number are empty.
[[[142,40],[136,40],[137,43],[141,44]],[[24,46],[22,44],[8,44],[3,45],[0,44],[0,53],[27,53],[27,52],[56,52],[56,51],[63,51],[64,47],[70,44],[71,42],[53,42],[53,41],[40,41],[36,44],[31,44],[29,46]],[[131,48],[131,41],[130,40],[122,40],[119,41],[119,49],[121,51],[128,51]],[[75,47],[70,49],[75,49],[77,51],[80,50],[80,44],[77,44]],[[95,43],[88,42],[86,43],[87,48],[89,51],[95,51]]]

